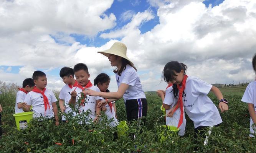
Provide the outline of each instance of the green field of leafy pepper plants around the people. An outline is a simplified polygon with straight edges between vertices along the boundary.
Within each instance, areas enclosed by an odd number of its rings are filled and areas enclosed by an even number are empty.
[[[115,128],[106,123],[106,117],[102,116],[99,124],[80,125],[77,119],[69,120],[55,126],[52,120],[37,122],[32,120],[26,130],[16,129],[13,115],[15,107],[16,85],[0,84],[3,94],[0,95],[0,103],[3,106],[2,123],[4,135],[0,140],[0,153],[190,153],[195,147],[193,143],[193,123],[186,116],[187,127],[184,137],[163,129],[164,118],[157,119],[162,115],[159,97],[154,92],[147,92],[148,114],[144,127],[137,127],[137,123],[129,125],[127,135],[114,138]],[[221,114],[223,123],[215,127],[208,139],[208,145],[203,145],[203,138],[198,152],[233,152],[246,153],[256,151],[256,139],[249,138],[249,112],[247,105],[241,102],[245,87],[221,89],[226,99],[230,101],[229,111]],[[56,93],[57,95],[58,93]],[[213,94],[210,98],[217,104]],[[116,102],[117,116],[119,120],[126,120],[124,103],[120,99]],[[61,114],[59,114],[61,115]],[[135,140],[131,135],[135,133]],[[160,135],[167,135],[165,140]]]

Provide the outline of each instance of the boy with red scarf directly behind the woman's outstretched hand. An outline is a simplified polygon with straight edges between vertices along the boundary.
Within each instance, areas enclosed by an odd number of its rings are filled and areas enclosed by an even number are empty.
[[[78,63],[74,66],[74,75],[77,83],[75,83],[71,89],[71,99],[69,100],[69,104],[75,104],[78,101],[78,98],[84,94],[85,88],[100,92],[99,88],[92,85],[89,80],[90,74],[88,72],[88,67],[84,63]],[[83,113],[88,110],[91,111],[88,116],[89,118],[86,119],[86,123],[89,123],[88,121],[90,119],[96,121],[101,111],[101,108],[96,106],[103,98],[99,96],[86,96],[85,94],[84,96],[84,99],[80,104],[76,104],[76,107],[78,107],[79,113]]]

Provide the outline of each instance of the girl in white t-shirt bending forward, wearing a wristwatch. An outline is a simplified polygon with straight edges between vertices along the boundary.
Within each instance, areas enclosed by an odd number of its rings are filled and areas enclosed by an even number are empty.
[[[164,100],[164,107],[169,109],[167,113],[169,117],[174,116],[175,111],[180,107],[181,115],[178,117],[178,126],[182,125],[183,109],[185,109],[188,117],[194,122],[195,133],[203,134],[201,133],[203,132],[202,129],[218,126],[222,122],[217,107],[207,96],[209,91],[212,91],[219,99],[221,112],[228,110],[228,101],[223,98],[217,87],[197,77],[188,77],[185,75],[186,70],[187,66],[177,61],[168,62],[165,65],[163,70],[164,80],[173,83],[173,85],[168,88],[170,97]],[[197,139],[197,134],[195,134],[195,139]]]

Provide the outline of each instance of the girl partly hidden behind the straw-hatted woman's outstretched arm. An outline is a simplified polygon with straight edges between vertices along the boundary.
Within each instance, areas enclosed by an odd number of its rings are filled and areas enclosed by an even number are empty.
[[[97,75],[94,79],[94,86],[97,85],[101,92],[109,92],[107,88],[109,88],[110,78],[106,73],[101,73]],[[105,114],[107,115],[107,119],[113,119],[111,122],[112,127],[116,127],[118,124],[117,116],[116,116],[116,104],[115,101],[108,101],[108,99],[104,98],[107,101],[107,104],[104,106],[106,108]]]

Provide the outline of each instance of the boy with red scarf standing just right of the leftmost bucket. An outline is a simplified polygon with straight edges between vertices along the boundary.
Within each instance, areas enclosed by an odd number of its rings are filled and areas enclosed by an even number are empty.
[[[34,118],[48,117],[49,119],[55,119],[55,125],[59,125],[57,99],[53,91],[45,88],[47,85],[45,73],[35,71],[32,78],[36,86],[26,95],[24,103],[22,103],[23,111],[28,112],[32,105]]]

